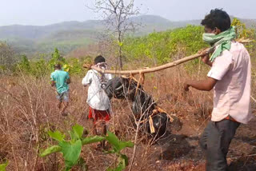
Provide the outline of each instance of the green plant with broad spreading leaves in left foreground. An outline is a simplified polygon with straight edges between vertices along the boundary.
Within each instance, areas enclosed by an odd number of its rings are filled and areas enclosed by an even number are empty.
[[[54,132],[49,131],[48,134],[54,140],[58,141],[58,145],[53,145],[48,149],[45,149],[40,153],[40,157],[46,157],[51,153],[62,153],[65,160],[66,170],[70,170],[74,165],[78,164],[78,161],[82,161],[80,153],[82,151],[82,145],[88,145],[90,143],[103,141],[105,137],[82,137],[83,127],[81,125],[74,125],[70,131],[70,140],[65,140],[65,134],[56,130]]]

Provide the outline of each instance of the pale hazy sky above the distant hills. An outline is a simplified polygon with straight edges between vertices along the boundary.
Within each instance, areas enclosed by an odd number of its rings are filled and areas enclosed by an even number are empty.
[[[48,25],[65,21],[98,19],[86,8],[94,0],[0,0],[0,26]],[[240,18],[256,18],[256,0],[135,0],[143,14],[173,21],[203,18],[213,8],[223,8]]]

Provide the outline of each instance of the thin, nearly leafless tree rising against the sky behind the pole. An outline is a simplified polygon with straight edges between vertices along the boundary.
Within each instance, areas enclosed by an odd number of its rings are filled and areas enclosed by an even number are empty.
[[[138,7],[134,7],[134,0],[95,0],[94,12],[103,15],[106,30],[114,35],[118,42],[118,63],[122,70],[122,44],[127,32],[134,32],[135,27],[130,18],[139,14]]]

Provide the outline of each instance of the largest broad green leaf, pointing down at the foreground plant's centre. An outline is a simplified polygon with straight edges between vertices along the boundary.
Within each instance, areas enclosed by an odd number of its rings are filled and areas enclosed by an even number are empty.
[[[63,157],[65,159],[66,169],[72,168],[78,162],[82,150],[82,141],[77,140],[74,143],[61,141],[59,145],[62,147]]]

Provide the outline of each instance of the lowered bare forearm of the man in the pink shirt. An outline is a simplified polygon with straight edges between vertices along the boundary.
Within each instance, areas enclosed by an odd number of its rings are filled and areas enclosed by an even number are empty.
[[[214,85],[218,82],[214,78],[207,78],[202,81],[189,81],[184,84],[184,89],[186,91],[189,90],[190,86],[194,89],[202,90],[202,91],[210,91],[214,88]]]

